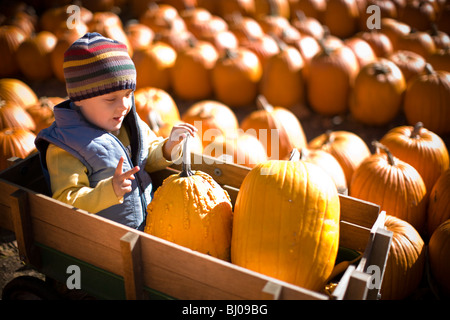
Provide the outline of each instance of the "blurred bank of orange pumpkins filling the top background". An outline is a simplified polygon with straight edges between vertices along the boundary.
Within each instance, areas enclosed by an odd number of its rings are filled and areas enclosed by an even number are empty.
[[[0,27],[0,76],[20,72],[29,81],[64,82],[64,51],[86,31],[96,31],[128,45],[138,88],[157,87],[188,101],[214,98],[232,108],[249,106],[262,94],[272,105],[306,104],[324,116],[350,112],[366,125],[387,125],[404,112],[410,125],[420,121],[437,134],[449,133],[450,37],[437,27],[446,28],[438,24],[447,10],[440,2],[420,1],[422,10],[434,6],[428,24],[414,23],[421,20],[412,13],[419,6],[414,1],[390,8],[391,1],[329,0],[321,15],[303,1],[248,1],[258,3],[252,15],[243,4],[231,12],[171,2],[132,1],[132,8],[146,6],[125,25],[118,14],[81,7],[73,29],[67,28],[67,5],[29,17],[28,24],[17,9],[20,22]],[[261,3],[276,10],[263,14]],[[283,3],[289,3],[289,15]],[[361,22],[339,30],[349,23],[340,11],[359,6],[366,21],[364,9],[371,4],[383,8],[380,29]]]

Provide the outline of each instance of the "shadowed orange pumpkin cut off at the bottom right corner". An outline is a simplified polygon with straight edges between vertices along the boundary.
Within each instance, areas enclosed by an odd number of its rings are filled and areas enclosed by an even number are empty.
[[[450,219],[440,224],[433,232],[428,243],[430,271],[442,292],[442,296],[450,297]]]

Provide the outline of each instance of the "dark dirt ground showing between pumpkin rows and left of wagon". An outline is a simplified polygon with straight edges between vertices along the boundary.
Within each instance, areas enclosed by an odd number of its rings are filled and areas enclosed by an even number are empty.
[[[45,83],[29,83],[29,85],[35,90],[39,97],[41,96],[59,96],[65,97],[65,87],[59,81],[51,80]],[[176,101],[180,113],[183,113],[188,106],[193,102],[189,101]],[[241,108],[236,110],[238,120],[241,121],[243,117],[250,113],[253,107]],[[388,126],[383,127],[367,127],[354,121],[351,116],[324,118],[311,112],[307,107],[298,106],[292,111],[297,115],[302,123],[303,129],[306,134],[306,138],[310,141],[312,138],[324,133],[326,130],[348,130],[358,134],[370,147],[373,140],[379,140],[381,137],[391,128],[398,125],[405,124],[405,119],[400,115],[395,121]],[[443,137],[447,148],[450,150],[450,136]],[[13,278],[20,275],[33,275],[38,278],[43,278],[43,275],[39,274],[33,269],[26,266],[18,256],[17,243],[15,241],[14,234],[0,229],[0,299],[1,292],[4,286]],[[424,289],[425,296],[433,299],[429,293],[429,289]]]

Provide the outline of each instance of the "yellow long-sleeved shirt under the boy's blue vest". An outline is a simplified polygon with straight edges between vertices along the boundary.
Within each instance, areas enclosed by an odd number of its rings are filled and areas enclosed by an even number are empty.
[[[163,145],[167,139],[157,137],[149,127],[146,127],[152,142],[148,146],[149,157],[145,166],[147,172],[162,170],[173,162],[163,156]],[[130,144],[127,130],[117,133],[117,138],[127,147]],[[180,156],[180,151],[178,156]],[[89,186],[87,168],[69,152],[50,144],[46,155],[48,172],[53,198],[76,208],[97,213],[112,205],[119,204],[123,198],[118,198],[112,186],[112,177],[100,181],[95,188]]]

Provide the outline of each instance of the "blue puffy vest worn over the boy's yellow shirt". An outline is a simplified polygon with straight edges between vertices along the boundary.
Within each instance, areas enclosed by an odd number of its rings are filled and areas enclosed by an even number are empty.
[[[148,158],[149,137],[143,134],[143,121],[137,116],[134,105],[125,117],[123,126],[128,129],[131,150],[113,134],[89,123],[78,108],[71,108],[71,101],[67,100],[55,106],[54,123],[41,130],[36,137],[36,147],[40,152],[40,160],[44,176],[50,185],[46,163],[46,151],[49,143],[66,150],[78,158],[87,168],[90,187],[114,175],[114,171],[121,156],[124,157],[123,170],[134,166],[141,170],[131,180],[132,191],[124,196],[121,204],[114,205],[98,213],[99,216],[122,223],[131,228],[143,230],[147,204],[152,197],[152,181],[144,170]]]

